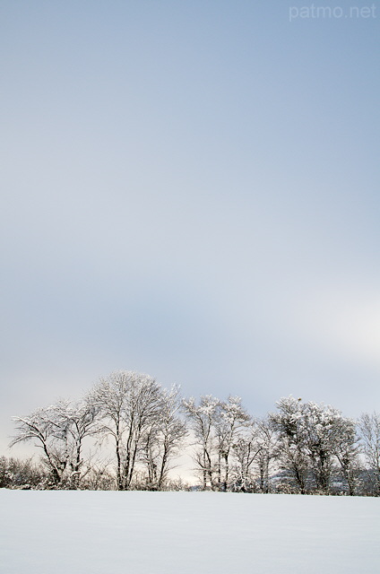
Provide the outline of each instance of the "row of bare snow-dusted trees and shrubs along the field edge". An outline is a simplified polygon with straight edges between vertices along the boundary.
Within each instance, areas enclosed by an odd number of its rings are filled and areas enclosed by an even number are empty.
[[[191,488],[380,495],[380,414],[358,421],[288,396],[262,418],[237,396],[181,398],[149,375],[117,371],[79,401],[13,417],[11,447],[32,441],[39,463],[0,457],[0,487],[126,491],[188,488],[169,471],[192,452]]]

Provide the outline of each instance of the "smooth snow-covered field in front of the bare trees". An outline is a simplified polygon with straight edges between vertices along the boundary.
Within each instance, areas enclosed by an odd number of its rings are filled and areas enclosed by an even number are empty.
[[[1,574],[377,574],[380,499],[0,491]]]

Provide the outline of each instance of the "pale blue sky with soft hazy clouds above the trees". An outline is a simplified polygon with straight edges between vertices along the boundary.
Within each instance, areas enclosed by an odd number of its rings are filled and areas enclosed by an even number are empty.
[[[0,453],[114,370],[255,416],[380,409],[379,28],[362,2],[0,1]]]

